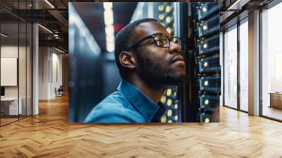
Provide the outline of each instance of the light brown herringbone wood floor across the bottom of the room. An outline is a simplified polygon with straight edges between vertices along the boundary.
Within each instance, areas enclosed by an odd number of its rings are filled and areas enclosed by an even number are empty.
[[[282,157],[282,123],[221,108],[221,123],[68,123],[68,98],[0,128],[0,157]]]

